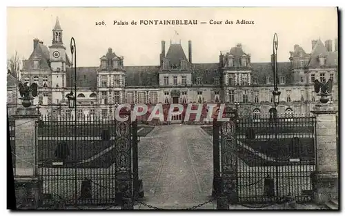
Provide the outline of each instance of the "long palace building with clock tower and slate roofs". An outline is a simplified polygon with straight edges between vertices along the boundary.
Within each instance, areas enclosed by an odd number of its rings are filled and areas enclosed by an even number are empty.
[[[333,79],[331,102],[338,103],[338,45],[335,39],[322,43],[311,41],[312,50],[306,52],[295,45],[286,62],[278,62],[278,86],[282,92],[277,108],[279,114],[309,115],[319,97],[314,92],[315,79]],[[202,46],[201,44],[198,46]],[[166,51],[167,48],[167,51]],[[188,52],[181,42],[161,41],[157,50],[160,61],[156,66],[125,66],[124,57],[112,48],[99,57],[99,66],[77,67],[77,117],[112,115],[116,104],[204,104],[219,103],[221,80],[224,96],[230,104],[239,103],[239,115],[268,114],[273,107],[272,63],[252,62],[250,55],[236,44],[220,53],[219,62],[193,63],[192,41]],[[187,55],[186,55],[187,54]],[[23,61],[21,82],[39,86],[42,115],[57,117],[70,115],[66,95],[73,86],[71,62],[63,45],[63,30],[59,19],[52,29],[52,44],[47,47],[39,39],[33,40],[30,57]],[[16,99],[17,82],[8,77],[8,108],[14,114],[23,108]]]

